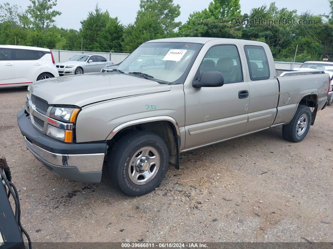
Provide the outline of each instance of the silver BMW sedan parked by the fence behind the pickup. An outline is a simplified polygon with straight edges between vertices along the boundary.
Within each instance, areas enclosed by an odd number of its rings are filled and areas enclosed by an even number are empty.
[[[59,75],[83,74],[90,72],[101,72],[107,65],[113,65],[105,57],[99,55],[75,55],[66,62],[56,64]]]

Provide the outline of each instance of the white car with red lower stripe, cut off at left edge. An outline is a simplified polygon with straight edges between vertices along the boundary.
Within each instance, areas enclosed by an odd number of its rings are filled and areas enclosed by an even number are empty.
[[[0,45],[0,71],[0,87],[59,76],[51,50],[28,46]]]

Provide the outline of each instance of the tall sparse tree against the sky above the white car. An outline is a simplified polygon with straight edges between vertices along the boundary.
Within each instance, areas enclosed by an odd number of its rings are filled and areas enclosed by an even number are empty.
[[[54,18],[61,15],[60,11],[52,10],[57,0],[30,0],[26,13],[31,17],[31,24],[35,29],[49,28],[55,23]]]

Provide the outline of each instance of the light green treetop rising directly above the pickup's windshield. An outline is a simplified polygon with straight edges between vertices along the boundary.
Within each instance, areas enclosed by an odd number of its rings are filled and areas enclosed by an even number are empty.
[[[181,22],[175,22],[180,15],[180,5],[174,5],[173,0],[141,0],[138,15],[144,15],[147,11],[157,13],[158,22],[166,34],[173,33],[181,25]]]

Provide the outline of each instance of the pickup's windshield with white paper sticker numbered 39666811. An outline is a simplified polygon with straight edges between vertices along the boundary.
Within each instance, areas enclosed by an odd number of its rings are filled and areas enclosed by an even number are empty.
[[[201,47],[197,43],[144,43],[117,69],[146,73],[164,82],[183,83]]]

